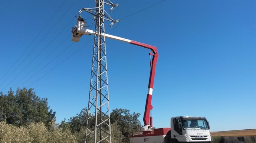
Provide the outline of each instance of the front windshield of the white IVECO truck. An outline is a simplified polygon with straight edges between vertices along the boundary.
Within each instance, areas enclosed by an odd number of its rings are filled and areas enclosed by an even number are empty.
[[[181,120],[183,129],[204,129],[209,130],[206,120]]]

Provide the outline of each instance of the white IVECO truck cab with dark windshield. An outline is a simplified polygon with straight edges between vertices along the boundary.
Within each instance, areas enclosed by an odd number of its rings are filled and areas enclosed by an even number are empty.
[[[205,117],[171,118],[171,142],[211,142],[209,122]]]

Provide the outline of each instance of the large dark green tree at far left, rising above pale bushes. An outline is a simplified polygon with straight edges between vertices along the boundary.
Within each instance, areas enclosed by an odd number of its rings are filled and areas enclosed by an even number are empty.
[[[55,120],[55,113],[47,106],[47,98],[39,98],[33,88],[17,88],[16,95],[10,88],[7,95],[0,93],[0,121],[15,126],[43,122],[47,127]]]

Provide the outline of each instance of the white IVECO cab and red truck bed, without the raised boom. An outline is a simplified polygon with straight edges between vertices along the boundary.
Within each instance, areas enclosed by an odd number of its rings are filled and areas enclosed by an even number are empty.
[[[178,116],[171,118],[171,128],[158,128],[135,132],[130,143],[210,143],[209,122],[205,117]]]

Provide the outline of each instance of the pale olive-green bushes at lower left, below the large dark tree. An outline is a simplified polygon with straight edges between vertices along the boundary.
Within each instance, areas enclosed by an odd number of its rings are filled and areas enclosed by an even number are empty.
[[[27,127],[0,122],[1,143],[76,143],[68,129],[47,130],[43,123],[30,123]]]

